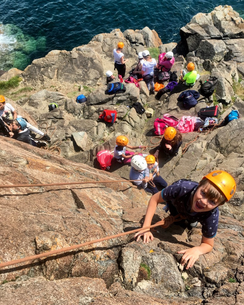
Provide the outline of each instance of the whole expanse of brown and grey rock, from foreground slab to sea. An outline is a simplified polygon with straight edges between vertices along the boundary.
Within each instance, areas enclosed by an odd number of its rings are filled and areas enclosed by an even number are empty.
[[[243,304],[244,101],[234,91],[237,84],[242,88],[244,76],[244,20],[230,6],[220,5],[209,14],[194,16],[180,34],[178,44],[163,45],[148,27],[124,33],[115,29],[70,52],[53,50],[24,71],[11,69],[3,74],[0,80],[20,75],[21,88],[34,88],[29,97],[16,103],[6,101],[20,115],[28,116],[31,124],[45,122],[51,126],[50,132],[55,129],[51,145],[60,142],[61,156],[2,138],[0,184],[128,179],[127,165],[114,162],[109,171],[101,171],[95,159],[98,151],[113,150],[117,135],[128,135],[131,145],[150,146],[153,121],[163,113],[178,118],[195,116],[214,102],[219,105],[221,120],[231,109],[238,109],[241,119],[209,134],[183,134],[183,144],[196,135],[199,138],[184,155],[180,149],[172,159],[159,160],[160,174],[168,183],[182,177],[199,181],[217,168],[235,178],[237,192],[220,207],[213,251],[201,256],[187,271],[179,265],[177,251],[199,243],[200,224],[180,231],[175,225],[160,228],[153,242],[146,245],[135,242],[133,236],[124,236],[55,259],[0,270],[1,304]],[[201,75],[193,90],[199,91],[211,75],[219,79],[216,92],[210,98],[201,95],[201,102],[190,110],[177,100],[187,89],[183,84],[159,100],[149,95],[144,82],[140,82],[140,89],[126,84],[125,93],[106,95],[105,72],[113,70],[112,51],[118,40],[124,42],[124,53],[130,57],[127,71],[145,48],[158,48],[160,53],[173,51],[176,62],[172,70],[177,75],[192,61]],[[88,98],[83,104],[67,96],[67,91],[80,86]],[[50,102],[59,108],[48,112]],[[141,102],[146,112],[139,115],[134,108],[128,109],[134,102]],[[99,120],[104,109],[117,110],[114,124]],[[81,131],[83,136],[77,140]],[[0,194],[0,262],[137,228],[150,198],[126,180],[102,187],[0,189]],[[153,221],[166,215],[159,207]]]

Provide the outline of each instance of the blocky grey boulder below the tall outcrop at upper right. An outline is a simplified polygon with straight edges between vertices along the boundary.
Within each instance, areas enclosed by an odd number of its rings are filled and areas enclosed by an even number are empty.
[[[222,40],[202,40],[197,49],[196,55],[201,59],[209,59],[212,62],[219,62],[227,54],[226,46]]]

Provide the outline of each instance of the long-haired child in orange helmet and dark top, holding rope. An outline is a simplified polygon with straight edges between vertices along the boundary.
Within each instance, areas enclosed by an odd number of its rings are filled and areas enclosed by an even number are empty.
[[[174,127],[167,127],[164,131],[160,145],[156,147],[154,156],[157,158],[159,152],[164,152],[168,157],[173,156],[178,153],[181,144],[182,136],[180,131]],[[155,151],[155,149],[153,151]]]

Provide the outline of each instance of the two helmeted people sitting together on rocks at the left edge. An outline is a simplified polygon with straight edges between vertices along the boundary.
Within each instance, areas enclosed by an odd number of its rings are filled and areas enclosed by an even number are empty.
[[[10,103],[6,103],[5,97],[0,95],[0,135],[25,142],[33,146],[47,146],[45,141],[37,141],[30,136],[30,131],[37,133],[47,142],[51,139],[47,134],[31,125],[26,119],[17,115],[16,110]]]

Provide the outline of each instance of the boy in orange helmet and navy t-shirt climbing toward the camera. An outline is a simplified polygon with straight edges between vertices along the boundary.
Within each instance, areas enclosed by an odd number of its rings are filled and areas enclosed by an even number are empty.
[[[218,206],[230,200],[235,189],[234,178],[223,170],[215,170],[207,174],[199,183],[186,179],[178,180],[151,197],[142,227],[151,225],[157,205],[163,202],[169,206],[170,215],[176,216],[180,213],[187,217],[188,222],[195,221],[197,224],[199,221],[202,225],[201,244],[178,251],[183,254],[181,265],[184,266],[188,262],[186,266],[188,269],[193,266],[199,255],[212,251],[218,228]],[[142,235],[144,243],[148,243],[150,239],[153,240],[152,233],[146,229],[135,234],[136,241]]]

